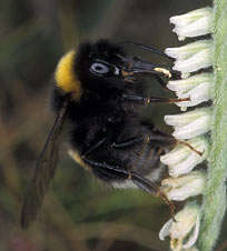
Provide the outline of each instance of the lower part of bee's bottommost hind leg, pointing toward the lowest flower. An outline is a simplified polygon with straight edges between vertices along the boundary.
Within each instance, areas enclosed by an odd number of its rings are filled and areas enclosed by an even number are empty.
[[[170,215],[172,220],[175,221],[175,205],[174,203],[166,197],[164,192],[160,191],[158,185],[154,183],[152,181],[139,175],[136,172],[130,173],[130,178],[135,184],[138,185],[138,188],[145,190],[146,192],[149,192],[154,195],[160,195],[162,200],[169,205],[170,209]]]

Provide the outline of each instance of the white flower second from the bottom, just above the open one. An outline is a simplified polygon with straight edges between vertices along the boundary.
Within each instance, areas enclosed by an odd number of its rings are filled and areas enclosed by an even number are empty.
[[[169,200],[184,201],[190,197],[203,194],[205,183],[206,173],[194,171],[178,178],[162,180],[160,190]]]

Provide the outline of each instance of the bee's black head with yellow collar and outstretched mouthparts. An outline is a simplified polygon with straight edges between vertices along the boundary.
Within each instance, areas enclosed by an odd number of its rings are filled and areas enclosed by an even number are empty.
[[[120,44],[99,40],[96,43],[82,43],[77,53],[72,50],[63,56],[55,77],[57,87],[63,93],[70,93],[79,100],[85,90],[125,89],[138,73],[171,78],[171,72],[165,68],[128,58]]]

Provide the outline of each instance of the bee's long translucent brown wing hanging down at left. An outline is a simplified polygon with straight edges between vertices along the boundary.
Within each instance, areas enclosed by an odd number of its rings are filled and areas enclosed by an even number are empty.
[[[57,116],[52,130],[37,162],[36,169],[33,170],[20,217],[21,227],[24,229],[34,220],[37,212],[42,204],[45,194],[48,191],[50,181],[55,175],[58,164],[60,135],[66,113],[67,108],[65,106]]]

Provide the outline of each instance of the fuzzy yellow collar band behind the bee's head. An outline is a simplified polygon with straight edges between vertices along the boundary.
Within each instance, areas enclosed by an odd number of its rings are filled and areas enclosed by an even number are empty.
[[[55,80],[56,86],[60,88],[63,93],[71,93],[72,99],[79,101],[81,97],[81,84],[76,78],[73,70],[76,52],[69,51],[65,54],[57,66]]]

